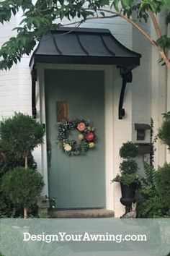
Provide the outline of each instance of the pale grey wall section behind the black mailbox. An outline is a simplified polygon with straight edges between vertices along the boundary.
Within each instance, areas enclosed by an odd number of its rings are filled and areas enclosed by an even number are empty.
[[[134,17],[134,20],[135,17]],[[151,33],[151,21],[139,24],[148,33]],[[133,71],[132,85],[132,141],[136,143],[150,142],[150,130],[146,130],[145,140],[137,140],[137,124],[151,124],[151,60],[152,46],[135,27],[133,27],[133,51],[142,54],[140,67]],[[143,160],[148,161],[149,155],[138,157],[138,172],[143,175]]]

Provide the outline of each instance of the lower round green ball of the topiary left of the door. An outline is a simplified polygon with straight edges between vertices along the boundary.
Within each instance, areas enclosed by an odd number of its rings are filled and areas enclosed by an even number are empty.
[[[24,218],[27,218],[27,209],[40,197],[43,186],[42,175],[30,168],[14,168],[1,179],[1,190],[14,205],[24,208]]]

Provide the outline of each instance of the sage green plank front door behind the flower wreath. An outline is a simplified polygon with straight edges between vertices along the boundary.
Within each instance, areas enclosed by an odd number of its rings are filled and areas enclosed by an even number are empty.
[[[56,144],[57,102],[68,103],[68,119],[89,120],[96,129],[96,148],[68,156]],[[57,208],[105,207],[104,72],[45,70],[49,195]],[[78,139],[78,132],[74,132]],[[49,152],[49,151],[48,151]]]

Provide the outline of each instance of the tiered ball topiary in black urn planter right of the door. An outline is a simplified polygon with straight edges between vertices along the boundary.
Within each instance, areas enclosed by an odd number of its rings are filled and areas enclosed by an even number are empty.
[[[125,205],[125,214],[130,212],[133,202],[135,202],[135,189],[140,182],[137,174],[138,163],[135,157],[138,155],[138,147],[133,142],[125,142],[120,148],[120,157],[124,160],[120,163],[120,174],[112,179],[112,182],[120,182],[122,197],[120,202]]]

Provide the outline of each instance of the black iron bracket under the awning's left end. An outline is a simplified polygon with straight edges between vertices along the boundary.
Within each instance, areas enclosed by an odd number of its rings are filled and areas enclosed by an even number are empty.
[[[37,108],[36,108],[36,81],[37,81],[37,70],[32,69],[32,118],[36,119],[37,117]]]

